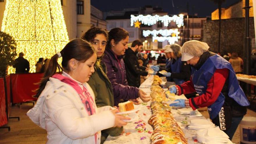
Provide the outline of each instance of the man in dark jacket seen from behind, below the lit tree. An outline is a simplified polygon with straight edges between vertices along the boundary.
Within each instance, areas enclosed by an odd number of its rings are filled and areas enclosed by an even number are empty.
[[[15,73],[28,73],[29,72],[29,61],[23,58],[23,52],[19,53],[19,57],[15,59],[15,63],[13,65],[16,68]]]

